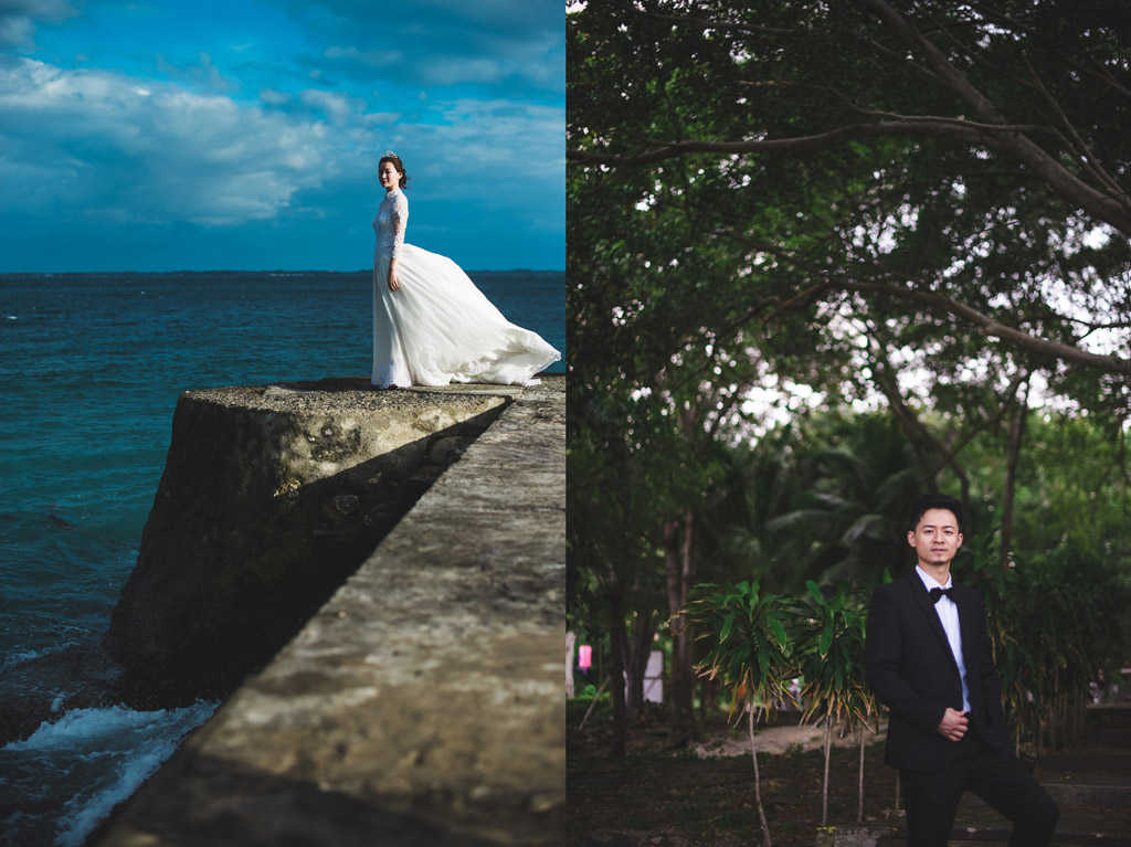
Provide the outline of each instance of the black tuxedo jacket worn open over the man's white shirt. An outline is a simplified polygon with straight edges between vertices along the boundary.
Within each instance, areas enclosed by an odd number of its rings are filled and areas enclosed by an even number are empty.
[[[995,747],[1007,744],[1001,682],[986,634],[982,596],[953,582],[972,726]],[[956,742],[938,733],[947,707],[962,710],[962,685],[931,595],[914,570],[872,595],[864,648],[867,683],[890,709],[884,761],[907,770],[939,770]]]

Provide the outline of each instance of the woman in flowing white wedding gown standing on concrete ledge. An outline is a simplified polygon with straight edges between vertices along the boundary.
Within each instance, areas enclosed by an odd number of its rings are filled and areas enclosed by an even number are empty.
[[[386,193],[373,218],[373,384],[537,384],[561,354],[508,321],[451,259],[406,244],[405,167],[387,152],[377,171]]]

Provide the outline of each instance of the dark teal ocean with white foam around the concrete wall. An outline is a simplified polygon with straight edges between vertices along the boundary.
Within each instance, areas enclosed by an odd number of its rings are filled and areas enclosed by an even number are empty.
[[[563,273],[470,276],[564,356]],[[0,274],[0,702],[6,671],[104,636],[181,392],[368,375],[371,286],[368,270]],[[218,706],[67,710],[66,680],[42,684],[54,714],[0,746],[3,847],[81,847]]]

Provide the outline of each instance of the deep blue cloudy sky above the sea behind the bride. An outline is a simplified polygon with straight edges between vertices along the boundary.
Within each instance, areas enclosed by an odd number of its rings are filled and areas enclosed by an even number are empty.
[[[0,0],[0,271],[564,268],[560,0]]]

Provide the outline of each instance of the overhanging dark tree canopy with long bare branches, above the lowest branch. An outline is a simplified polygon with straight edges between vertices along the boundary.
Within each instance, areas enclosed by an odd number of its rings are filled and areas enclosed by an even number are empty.
[[[1019,283],[1031,289],[1037,280],[1015,274],[979,283],[969,260],[972,252],[1005,252],[992,243],[1001,221],[1020,224],[1021,241],[1060,235],[1064,241],[1053,253],[1065,260],[1081,244],[1080,227],[1131,234],[1131,201],[1121,183],[1128,142],[1120,118],[1131,109],[1122,29],[1131,12],[1124,7],[1043,0],[987,10],[944,0],[917,3],[913,19],[884,0],[648,2],[599,5],[575,20],[582,32],[572,42],[571,71],[578,72],[571,85],[587,86],[594,74],[632,81],[605,86],[605,97],[589,89],[571,110],[573,163],[598,172],[650,168],[658,179],[638,183],[645,185],[639,199],[654,206],[662,193],[690,192],[692,181],[711,199],[718,188],[752,193],[762,187],[771,199],[783,198],[786,189],[767,173],[766,159],[775,157],[772,165],[789,168],[791,176],[808,176],[791,205],[814,219],[810,231],[831,237],[812,252],[815,261],[784,239],[746,244],[748,258],[765,253],[811,271],[813,278],[803,280],[817,283],[810,299],[837,289],[882,294],[1042,357],[1131,373],[1126,357],[1080,347],[1067,326],[1072,316],[1053,304],[1020,314],[995,309],[986,293],[1016,294]],[[616,76],[610,72],[613,51],[625,57]],[[693,176],[671,166],[692,157]],[[813,190],[828,179],[812,165],[835,171],[848,189],[843,199],[855,200],[855,208],[801,206],[830,199]],[[877,166],[889,173],[867,174]],[[993,197],[984,193],[986,184]],[[898,202],[884,204],[892,190]],[[735,209],[746,211],[741,199],[725,204],[726,211]],[[1022,211],[1034,214],[1017,219]],[[750,223],[765,222],[743,215],[729,231],[716,226],[703,235],[759,241],[765,230]],[[778,223],[778,235],[805,234],[806,227]],[[877,225],[896,244],[927,250],[910,263],[906,252],[869,237]],[[846,237],[856,227],[864,232]],[[1046,244],[1034,247],[1045,259],[1038,273],[1048,270]],[[1125,244],[1110,247],[1096,269],[1111,270],[1112,261],[1125,269]],[[1087,251],[1083,263],[1065,261],[1057,276],[1086,292],[1081,271],[1099,253]],[[1016,262],[1019,252],[1007,254]],[[840,261],[830,271],[821,259],[832,256]],[[922,271],[913,273],[915,266]],[[939,285],[942,278],[950,284]],[[1105,309],[1093,297],[1088,305],[1121,313],[1125,329],[1126,303]],[[1080,322],[1077,335],[1096,328]],[[1042,335],[1044,327],[1064,335]]]

